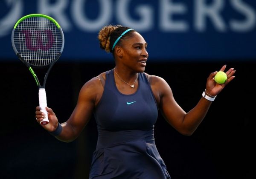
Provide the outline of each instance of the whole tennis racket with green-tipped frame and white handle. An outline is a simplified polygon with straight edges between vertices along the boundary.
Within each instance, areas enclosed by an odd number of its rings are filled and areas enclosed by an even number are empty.
[[[21,17],[12,30],[12,47],[18,58],[29,68],[38,85],[39,106],[46,114],[40,124],[48,124],[45,83],[52,66],[60,58],[64,48],[61,26],[52,17],[44,14],[29,14]],[[46,69],[43,85],[34,68]]]

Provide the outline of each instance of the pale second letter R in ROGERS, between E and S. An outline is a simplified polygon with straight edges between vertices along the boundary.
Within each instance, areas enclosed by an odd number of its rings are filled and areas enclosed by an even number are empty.
[[[206,0],[195,0],[195,29],[200,32],[206,29],[206,17],[212,20],[212,24],[220,31],[226,31],[226,25],[220,12],[224,8],[224,0],[213,0],[210,6],[206,6]]]

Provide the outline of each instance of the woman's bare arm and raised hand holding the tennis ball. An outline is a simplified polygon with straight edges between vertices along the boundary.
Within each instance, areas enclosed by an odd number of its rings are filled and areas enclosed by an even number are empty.
[[[226,66],[223,66],[221,71],[224,71],[225,68]],[[224,84],[217,84],[213,80],[216,72],[212,72],[207,78],[206,89],[208,94],[215,96],[221,92],[221,90],[235,78],[235,76],[233,76],[234,73],[235,70],[233,70],[233,68],[229,69],[226,72],[227,81]],[[190,136],[195,132],[212,104],[212,101],[201,97],[198,104],[186,113],[175,101],[171,88],[163,78],[154,76],[152,79],[152,89],[156,98],[159,100],[159,107],[163,116],[169,124],[183,135]]]

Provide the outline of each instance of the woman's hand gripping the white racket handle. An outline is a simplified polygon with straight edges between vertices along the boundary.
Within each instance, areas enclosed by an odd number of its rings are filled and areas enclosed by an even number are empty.
[[[40,106],[37,106],[35,108],[35,118],[36,118],[38,124],[40,124],[40,122],[45,118],[45,115],[48,115],[49,123],[46,125],[41,125],[41,126],[44,127],[44,129],[49,132],[56,130],[56,128],[58,127],[58,118],[56,117],[56,115],[52,111],[52,109],[49,107],[46,107],[48,114],[44,114],[40,110],[41,110]]]

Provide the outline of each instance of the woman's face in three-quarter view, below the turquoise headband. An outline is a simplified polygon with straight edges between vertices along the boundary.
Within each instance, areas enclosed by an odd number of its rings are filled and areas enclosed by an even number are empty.
[[[144,72],[148,60],[147,43],[144,38],[134,32],[134,36],[122,42],[122,63],[136,72]]]

